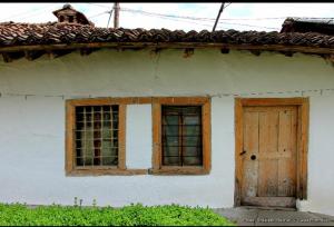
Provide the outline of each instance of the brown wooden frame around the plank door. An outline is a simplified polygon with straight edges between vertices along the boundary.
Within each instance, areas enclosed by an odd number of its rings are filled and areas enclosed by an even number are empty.
[[[244,107],[297,106],[297,177],[296,198],[307,199],[307,149],[308,149],[308,111],[307,98],[235,98],[235,191],[234,206],[242,203],[243,159],[243,116]]]

